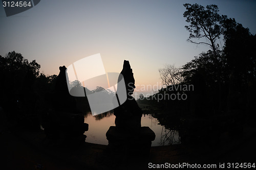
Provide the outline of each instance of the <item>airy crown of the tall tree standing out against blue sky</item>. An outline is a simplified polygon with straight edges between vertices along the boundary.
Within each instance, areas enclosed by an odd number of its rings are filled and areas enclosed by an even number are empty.
[[[198,4],[184,4],[184,7],[186,11],[183,16],[190,23],[189,26],[185,26],[190,33],[188,41],[196,44],[209,45],[214,53],[214,57],[217,58],[219,45],[216,43],[216,40],[220,38],[224,31],[222,22],[226,16],[220,16],[218,14],[219,9],[217,5],[207,5],[206,9]],[[193,38],[205,38],[206,41],[196,42],[191,40]]]

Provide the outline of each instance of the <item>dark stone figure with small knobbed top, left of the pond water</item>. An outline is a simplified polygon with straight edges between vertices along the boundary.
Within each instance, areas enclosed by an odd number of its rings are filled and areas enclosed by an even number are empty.
[[[55,90],[52,93],[52,109],[45,115],[43,128],[47,138],[56,145],[78,146],[85,142],[89,125],[84,123],[82,114],[76,112],[76,101],[69,94],[66,67],[59,67]]]

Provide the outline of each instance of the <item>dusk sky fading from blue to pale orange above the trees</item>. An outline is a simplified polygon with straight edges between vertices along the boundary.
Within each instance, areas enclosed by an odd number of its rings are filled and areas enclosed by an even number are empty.
[[[59,66],[100,53],[106,72],[120,72],[129,60],[138,88],[161,86],[164,64],[179,67],[210,49],[186,41],[185,3],[218,5],[220,14],[256,33],[256,1],[41,0],[9,17],[0,7],[0,55],[21,53],[45,75],[58,75]]]

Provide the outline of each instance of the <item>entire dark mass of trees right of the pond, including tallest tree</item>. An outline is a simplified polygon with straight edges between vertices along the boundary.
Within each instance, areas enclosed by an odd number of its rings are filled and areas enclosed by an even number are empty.
[[[210,50],[179,68],[169,64],[159,69],[167,87],[137,101],[152,112],[164,112],[154,117],[165,128],[179,131],[183,144],[229,143],[243,135],[245,127],[255,127],[256,35],[220,15],[216,5],[184,7],[187,40]],[[189,85],[193,88],[176,88]]]

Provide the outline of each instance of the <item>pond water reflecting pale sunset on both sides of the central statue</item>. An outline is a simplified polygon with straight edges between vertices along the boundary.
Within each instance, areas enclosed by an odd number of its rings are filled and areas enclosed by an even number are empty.
[[[84,133],[87,135],[87,142],[107,145],[108,140],[105,134],[110,126],[115,126],[115,115],[113,112],[106,112],[93,116],[91,112],[88,112],[84,115],[84,123],[89,124],[89,131]],[[160,125],[158,119],[152,114],[142,115],[141,126],[148,126],[155,132],[156,139],[152,141],[152,146],[180,143],[178,131]]]

